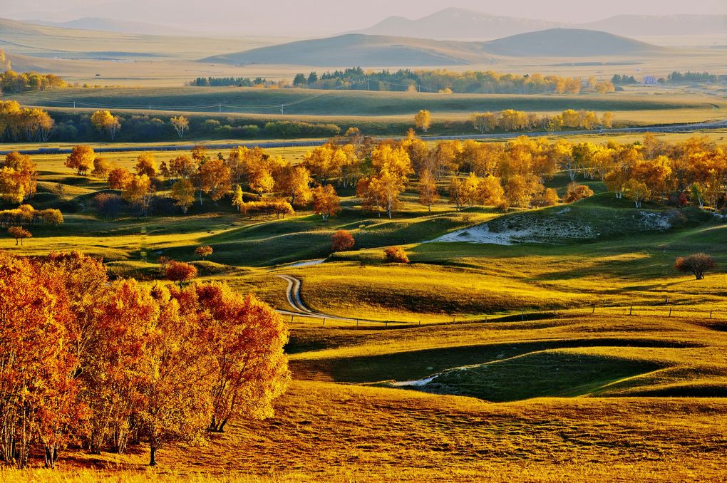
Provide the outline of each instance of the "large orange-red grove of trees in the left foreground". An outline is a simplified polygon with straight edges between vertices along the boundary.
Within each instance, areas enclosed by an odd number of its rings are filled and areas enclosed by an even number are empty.
[[[0,463],[126,452],[265,418],[289,381],[280,317],[227,285],[108,279],[79,253],[0,252]]]

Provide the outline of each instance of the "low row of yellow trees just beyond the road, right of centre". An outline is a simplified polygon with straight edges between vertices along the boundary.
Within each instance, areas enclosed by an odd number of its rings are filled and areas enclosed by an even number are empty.
[[[560,131],[561,129],[595,129],[599,126],[611,129],[614,115],[606,112],[599,118],[590,110],[566,109],[563,113],[553,116],[526,113],[520,110],[506,109],[499,113],[472,113],[470,121],[475,130],[482,134],[496,129],[503,131],[523,131],[545,129]]]

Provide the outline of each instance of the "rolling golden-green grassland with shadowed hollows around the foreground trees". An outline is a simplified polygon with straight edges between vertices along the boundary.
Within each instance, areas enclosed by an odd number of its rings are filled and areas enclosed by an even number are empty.
[[[130,168],[137,154],[106,157]],[[4,481],[726,477],[727,224],[719,217],[686,208],[675,227],[643,227],[640,214],[662,216],[668,208],[637,211],[600,182],[587,182],[593,198],[509,213],[456,212],[445,202],[429,212],[413,185],[393,219],[364,214],[353,191],[340,187],[344,211],[326,222],[305,210],[249,219],[224,199],[196,203],[187,216],[158,203],[148,218],[112,221],[90,201],[103,182],[76,176],[60,155],[33,159],[40,171],[33,205],[60,206],[65,224],[31,228],[23,247],[4,238],[2,249],[77,249],[103,256],[115,276],[147,282],[161,277],[158,256],[172,256],[193,261],[200,280],[225,280],[281,309],[288,309],[286,283],[276,275],[294,275],[313,309],[406,324],[293,317],[287,352],[294,382],[273,418],[232,423],[201,447],[164,447],[157,470],[145,468],[143,445],[126,455],[71,449],[61,471],[4,471]],[[550,186],[562,194],[568,181],[558,174]],[[597,235],[426,243],[482,222],[582,223]],[[330,253],[338,229],[353,232],[354,251]],[[193,255],[201,244],[214,248],[208,261]],[[386,264],[388,245],[403,245],[412,263]],[[700,281],[673,271],[676,256],[694,251],[712,254],[720,269]],[[285,265],[322,258],[316,266]]]

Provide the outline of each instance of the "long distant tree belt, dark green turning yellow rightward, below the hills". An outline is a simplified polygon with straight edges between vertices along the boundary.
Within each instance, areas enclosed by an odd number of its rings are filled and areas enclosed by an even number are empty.
[[[361,68],[335,70],[318,75],[298,73],[293,86],[312,89],[356,89],[374,91],[426,91],[483,94],[578,94],[582,90],[605,94],[613,92],[610,81],[589,78],[542,76],[539,73],[521,76],[488,71],[453,72],[450,70],[409,70],[396,72],[364,71]]]

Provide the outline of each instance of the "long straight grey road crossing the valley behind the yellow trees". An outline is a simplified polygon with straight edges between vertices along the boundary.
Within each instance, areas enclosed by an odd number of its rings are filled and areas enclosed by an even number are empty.
[[[584,131],[537,131],[537,132],[507,132],[499,134],[459,134],[454,136],[427,136],[422,137],[425,141],[450,141],[454,139],[510,139],[513,137],[542,137],[542,136],[572,136],[577,134],[628,134],[643,132],[691,132],[704,129],[725,129],[727,128],[727,119],[723,121],[710,121],[703,123],[686,123],[672,124],[669,126],[646,126],[646,127],[629,127],[620,129],[589,129]],[[382,139],[403,139],[397,137],[377,138]],[[238,143],[218,143],[204,145],[210,150],[233,149],[238,146],[246,147],[262,147],[269,149],[272,147],[314,147],[320,146],[327,142],[328,139],[317,139],[313,141],[269,141],[269,142],[238,142]],[[86,143],[89,144],[89,143]],[[95,144],[95,143],[90,143]],[[159,146],[119,146],[119,147],[97,147],[97,153],[124,153],[129,151],[188,151],[195,145],[159,145]],[[41,147],[36,150],[20,150],[20,154],[36,155],[36,154],[70,154],[71,148]],[[0,150],[0,155],[10,153],[10,150]]]

